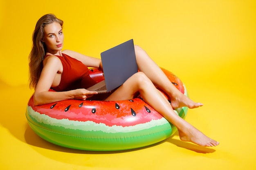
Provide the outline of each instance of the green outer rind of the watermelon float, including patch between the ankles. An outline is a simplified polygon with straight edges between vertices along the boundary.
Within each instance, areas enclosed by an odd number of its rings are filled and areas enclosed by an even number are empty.
[[[186,107],[180,108],[179,116],[184,119],[187,110],[188,108]],[[177,130],[177,128],[167,120],[165,124],[139,130],[137,132],[107,133],[101,130],[74,130],[40,123],[36,121],[28,111],[26,111],[26,117],[29,126],[34,132],[46,141],[59,146],[79,150],[114,151],[140,148],[163,141],[173,135]],[[41,128],[40,126],[44,128]]]

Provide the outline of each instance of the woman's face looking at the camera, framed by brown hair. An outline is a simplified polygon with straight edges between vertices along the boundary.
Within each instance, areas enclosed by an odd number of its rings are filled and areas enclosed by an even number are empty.
[[[64,35],[62,27],[58,22],[53,22],[44,27],[43,42],[45,42],[46,52],[55,54],[63,48]]]

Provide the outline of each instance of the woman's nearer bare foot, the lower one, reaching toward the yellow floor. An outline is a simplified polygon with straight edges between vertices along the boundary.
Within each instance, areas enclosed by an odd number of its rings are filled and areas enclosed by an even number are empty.
[[[189,141],[199,146],[217,146],[219,142],[207,137],[200,130],[192,126],[191,124],[186,124],[186,129],[178,130],[180,140]]]

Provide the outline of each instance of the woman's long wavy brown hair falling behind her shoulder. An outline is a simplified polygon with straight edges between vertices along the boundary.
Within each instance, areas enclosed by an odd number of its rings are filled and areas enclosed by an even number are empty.
[[[36,88],[41,71],[43,69],[43,59],[46,53],[46,47],[43,40],[44,26],[58,22],[63,26],[63,21],[58,19],[54,14],[43,15],[36,23],[32,35],[33,46],[29,54],[29,87]]]

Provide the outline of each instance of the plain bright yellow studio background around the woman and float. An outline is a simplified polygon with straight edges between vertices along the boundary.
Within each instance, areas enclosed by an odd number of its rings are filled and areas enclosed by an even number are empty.
[[[255,9],[254,0],[0,0],[0,168],[255,170]],[[46,13],[64,20],[64,49],[100,57],[133,38],[204,103],[186,120],[220,145],[202,148],[176,134],[136,150],[88,152],[36,136],[25,118],[27,57]]]

